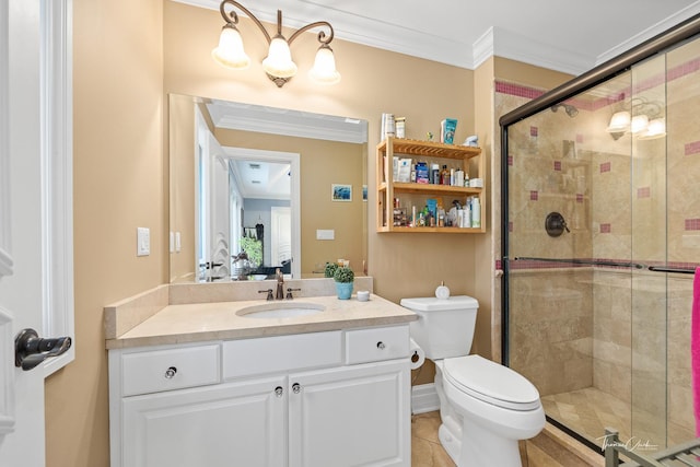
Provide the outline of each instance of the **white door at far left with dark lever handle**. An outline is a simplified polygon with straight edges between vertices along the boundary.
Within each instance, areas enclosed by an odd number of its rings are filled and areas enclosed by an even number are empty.
[[[0,467],[45,465],[44,378],[73,357],[14,364],[22,329],[72,335],[70,14],[70,0],[0,2]]]

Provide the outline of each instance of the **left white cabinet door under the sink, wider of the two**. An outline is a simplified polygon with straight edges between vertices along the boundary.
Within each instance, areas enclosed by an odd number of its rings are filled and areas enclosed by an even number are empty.
[[[122,467],[287,466],[285,378],[122,399]]]

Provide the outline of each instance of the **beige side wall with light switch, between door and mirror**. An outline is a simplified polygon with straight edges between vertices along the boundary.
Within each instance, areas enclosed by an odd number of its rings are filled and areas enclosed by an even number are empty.
[[[46,383],[47,465],[108,465],[103,306],[167,278],[162,4],[73,1],[75,361]],[[151,229],[137,258],[136,227]]]

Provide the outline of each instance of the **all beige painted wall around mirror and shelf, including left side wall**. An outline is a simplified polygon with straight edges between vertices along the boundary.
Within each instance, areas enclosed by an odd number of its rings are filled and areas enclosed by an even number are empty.
[[[406,116],[409,138],[438,133],[440,121],[453,117],[459,120],[457,141],[475,132],[486,141],[487,125],[476,126],[475,95],[492,90],[481,89],[488,78],[475,84],[469,70],[340,39],[332,47],[342,81],[315,87],[304,71],[313,61],[314,35],[294,43],[302,71],[278,89],[259,67],[262,37],[245,19],[241,30],[250,38],[246,48],[253,66],[234,73],[210,57],[222,25],[217,11],[168,0],[74,0],[73,9],[77,358],[47,381],[47,466],[101,467],[109,464],[103,306],[168,280],[168,93],[369,120],[366,215],[374,220],[372,148],[382,113]],[[137,226],[151,229],[148,257],[136,257]],[[430,295],[444,280],[454,294],[486,297],[489,292],[477,290],[475,277],[486,264],[492,267],[490,253],[482,259],[481,248],[491,248],[488,237],[380,235],[370,224],[368,266],[374,290],[398,302]],[[488,355],[487,330],[480,324],[476,347]]]

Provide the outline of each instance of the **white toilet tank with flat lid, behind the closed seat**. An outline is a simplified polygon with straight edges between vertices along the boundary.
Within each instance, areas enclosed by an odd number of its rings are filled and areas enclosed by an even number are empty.
[[[401,299],[401,306],[415,312],[411,338],[430,360],[469,354],[479,302],[467,295]]]

